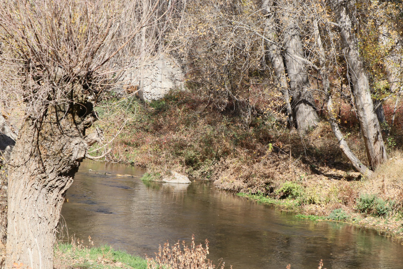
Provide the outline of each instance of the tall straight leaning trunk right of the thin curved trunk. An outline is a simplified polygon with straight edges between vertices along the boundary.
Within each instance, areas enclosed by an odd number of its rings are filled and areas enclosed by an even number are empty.
[[[347,64],[354,88],[354,99],[358,120],[364,137],[369,165],[376,168],[386,159],[386,150],[378,119],[371,99],[368,75],[358,49],[358,40],[353,32],[350,5],[355,1],[332,0],[331,7],[338,20],[342,42],[345,47]]]

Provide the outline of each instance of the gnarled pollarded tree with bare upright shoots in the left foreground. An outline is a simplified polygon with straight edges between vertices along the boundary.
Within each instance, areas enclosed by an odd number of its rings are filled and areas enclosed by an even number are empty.
[[[24,76],[18,95],[26,110],[9,163],[7,267],[53,268],[63,196],[99,140],[88,134],[94,106],[119,78],[124,57],[139,56],[132,40],[152,23],[157,4],[5,0],[0,6],[0,27]]]

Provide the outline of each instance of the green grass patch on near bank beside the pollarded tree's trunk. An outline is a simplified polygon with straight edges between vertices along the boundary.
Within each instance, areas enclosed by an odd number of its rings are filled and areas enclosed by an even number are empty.
[[[54,248],[55,268],[58,264],[74,268],[130,268],[146,269],[147,260],[132,256],[111,246],[85,248],[72,244],[58,243]]]

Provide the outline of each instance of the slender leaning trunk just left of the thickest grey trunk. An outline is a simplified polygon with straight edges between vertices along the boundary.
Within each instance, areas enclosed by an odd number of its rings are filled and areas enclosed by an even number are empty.
[[[281,48],[276,43],[277,34],[276,34],[276,30],[275,30],[275,21],[274,21],[275,14],[271,10],[272,6],[273,6],[273,0],[263,1],[262,9],[263,9],[264,13],[266,13],[265,16],[267,17],[265,34],[268,39],[274,41],[274,42],[270,42],[268,40],[265,40],[265,43],[267,46],[270,62],[272,63],[272,66],[274,68],[277,80],[280,84],[281,93],[282,93],[283,98],[286,103],[288,124],[289,124],[290,128],[292,129],[294,127],[295,123],[294,123],[294,119],[293,119],[293,111],[291,109],[290,95],[288,93],[289,86],[287,84],[287,77],[286,77],[283,57],[281,55]]]

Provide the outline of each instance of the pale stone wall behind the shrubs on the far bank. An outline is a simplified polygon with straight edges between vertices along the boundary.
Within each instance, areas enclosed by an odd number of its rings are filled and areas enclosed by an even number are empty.
[[[123,76],[124,88],[140,85],[140,68],[131,70]],[[171,89],[182,89],[184,73],[171,57],[162,56],[144,66],[143,96],[147,101],[161,99]]]

